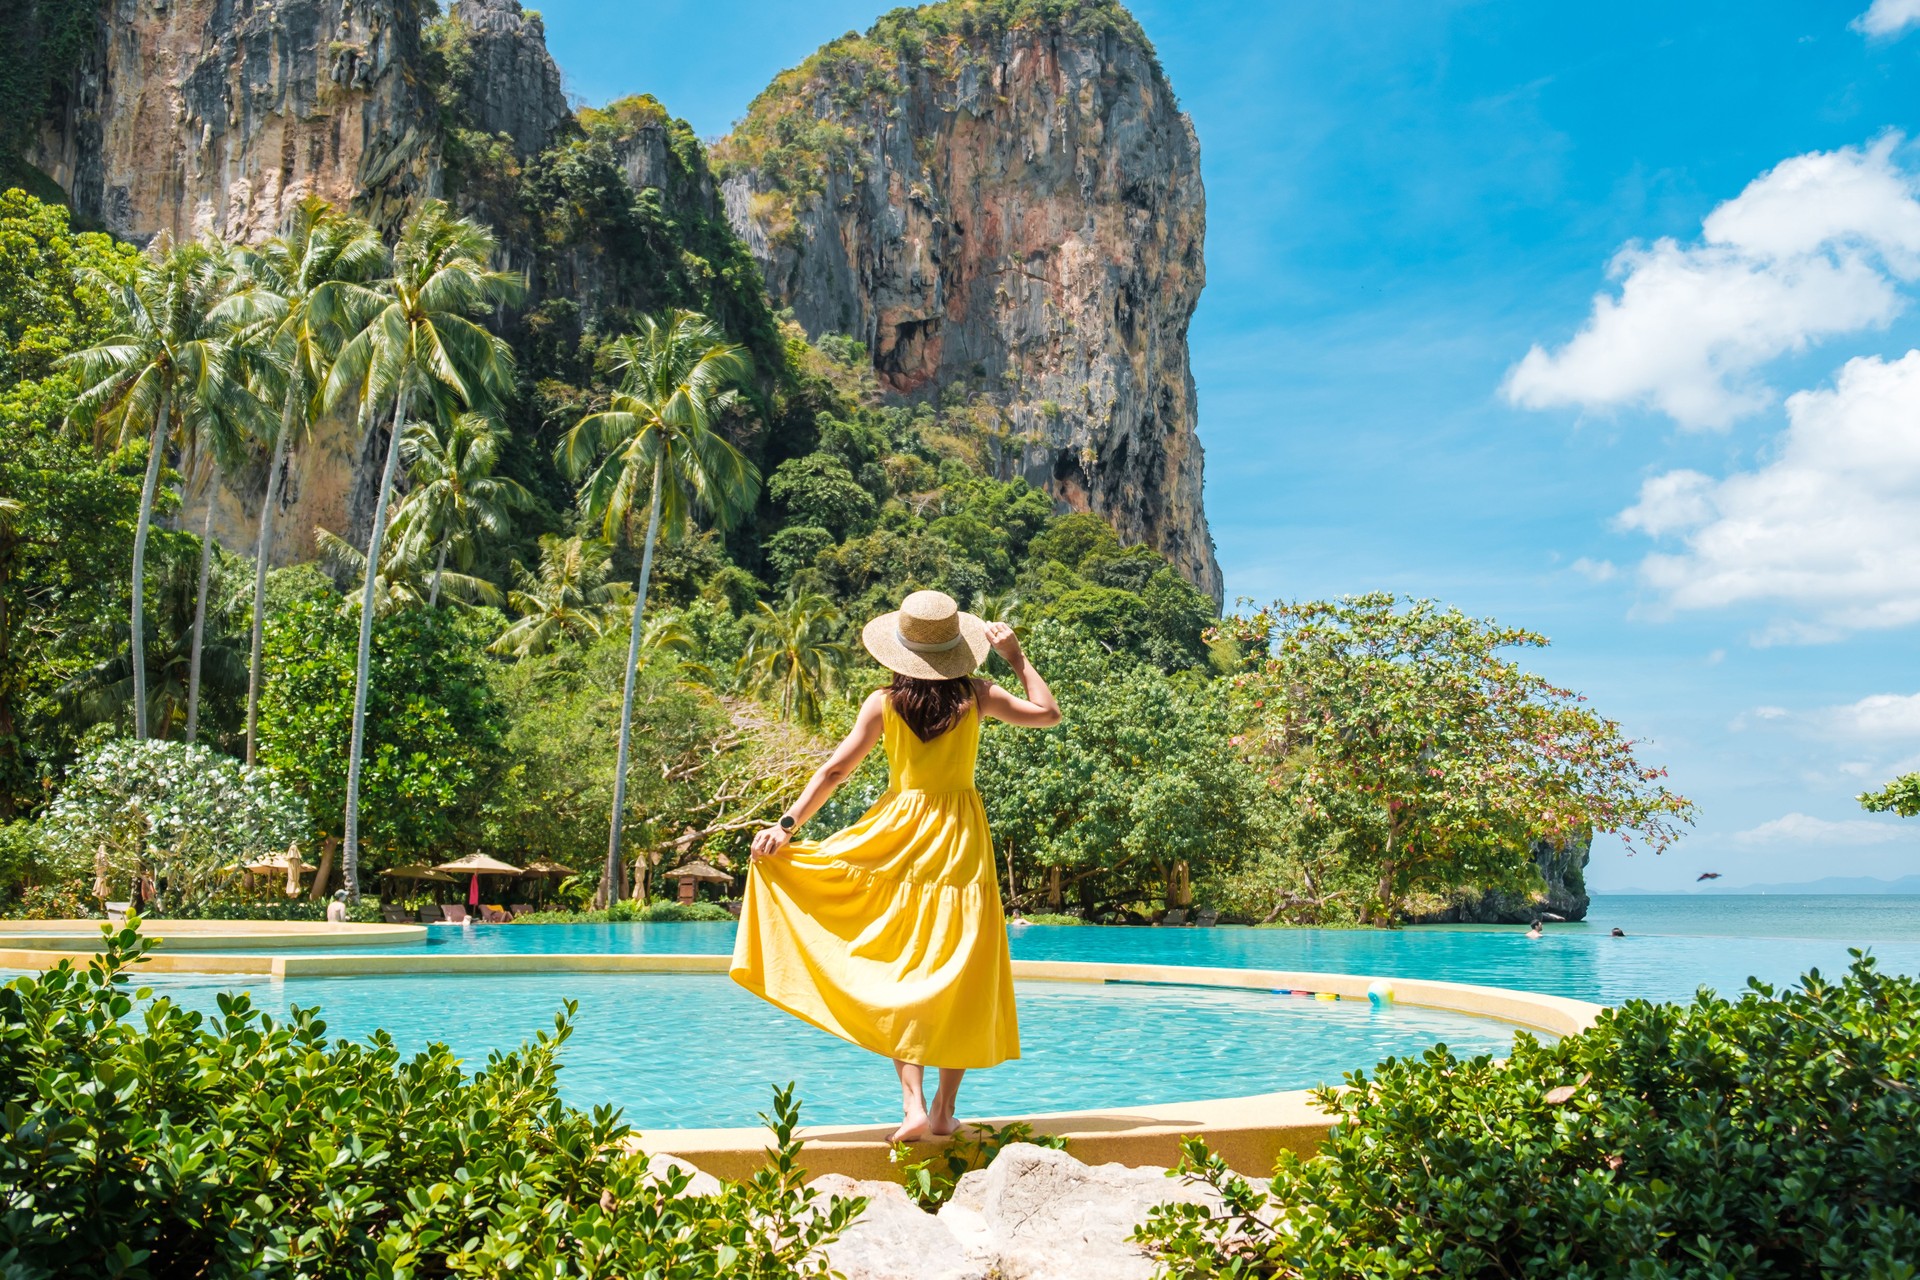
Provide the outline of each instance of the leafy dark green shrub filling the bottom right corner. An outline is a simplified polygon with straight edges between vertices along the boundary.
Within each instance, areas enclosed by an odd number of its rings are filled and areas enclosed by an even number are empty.
[[[1162,1274],[1920,1274],[1920,981],[1859,954],[1839,984],[1636,1000],[1505,1061],[1438,1046],[1348,1082],[1267,1194],[1188,1140],[1173,1173],[1225,1207],[1154,1209]]]

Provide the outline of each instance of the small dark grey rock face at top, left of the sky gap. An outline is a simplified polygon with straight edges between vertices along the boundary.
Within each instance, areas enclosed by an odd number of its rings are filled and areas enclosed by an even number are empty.
[[[572,121],[540,13],[520,0],[457,0],[453,21],[472,59],[461,84],[468,127],[507,134],[520,159],[538,155]]]

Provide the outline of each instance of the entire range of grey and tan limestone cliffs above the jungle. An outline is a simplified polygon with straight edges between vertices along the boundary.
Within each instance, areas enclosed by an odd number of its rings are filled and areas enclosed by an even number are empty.
[[[1041,17],[1027,17],[1027,10]],[[651,98],[568,109],[518,0],[104,0],[25,159],[136,240],[271,234],[313,192],[392,228],[447,196],[526,271],[547,347],[699,305],[778,363],[774,305],[868,344],[899,397],[989,397],[998,462],[1164,551],[1215,599],[1187,324],[1198,144],[1112,0],[895,12],[762,94],[726,180]],[[987,13],[991,17],[977,17]],[[538,416],[534,407],[522,407]],[[516,422],[538,432],[540,424]],[[280,562],[371,518],[382,428],[323,422],[282,486]],[[778,459],[774,459],[778,461]],[[215,503],[252,545],[263,464]]]

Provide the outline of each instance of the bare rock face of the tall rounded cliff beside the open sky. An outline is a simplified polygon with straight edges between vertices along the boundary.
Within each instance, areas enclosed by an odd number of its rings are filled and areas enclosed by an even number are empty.
[[[718,148],[728,217],[812,336],[864,342],[902,397],[987,393],[1008,470],[1217,599],[1187,355],[1200,144],[1131,17],[1083,8],[1117,17],[829,44]],[[795,136],[826,138],[818,161]]]

